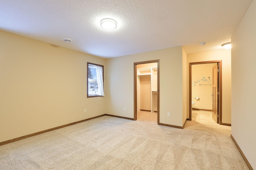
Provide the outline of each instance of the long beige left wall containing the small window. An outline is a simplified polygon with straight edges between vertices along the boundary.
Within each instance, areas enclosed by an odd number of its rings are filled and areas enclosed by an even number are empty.
[[[104,98],[86,97],[87,62],[104,59],[4,31],[0,37],[0,142],[105,113]]]

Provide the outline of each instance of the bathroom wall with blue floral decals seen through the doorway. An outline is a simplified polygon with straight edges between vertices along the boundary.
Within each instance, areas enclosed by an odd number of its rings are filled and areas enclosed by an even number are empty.
[[[196,102],[192,106],[194,109],[212,110],[212,66],[214,64],[216,63],[192,65],[192,82],[194,82],[192,83],[192,102]],[[196,100],[196,97],[200,99]]]

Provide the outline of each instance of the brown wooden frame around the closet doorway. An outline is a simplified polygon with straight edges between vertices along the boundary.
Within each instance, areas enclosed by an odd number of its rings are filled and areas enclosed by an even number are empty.
[[[160,116],[160,60],[151,60],[151,61],[141,61],[134,63],[134,120],[137,120],[137,65],[138,64],[148,64],[148,63],[157,63],[157,124],[159,125],[159,116]]]

